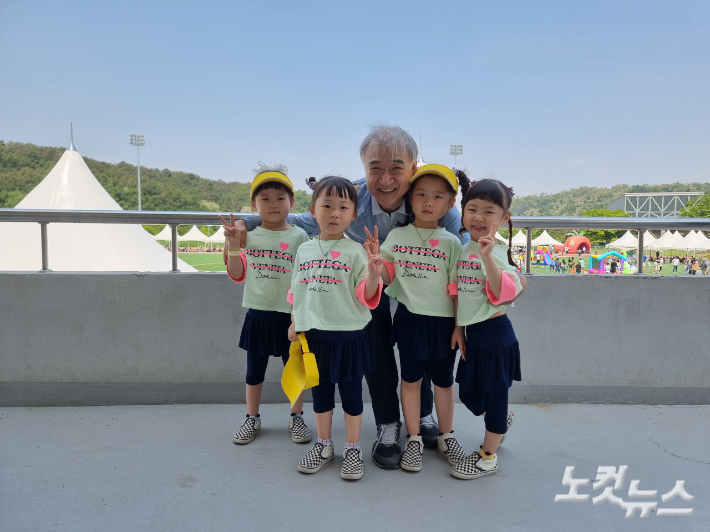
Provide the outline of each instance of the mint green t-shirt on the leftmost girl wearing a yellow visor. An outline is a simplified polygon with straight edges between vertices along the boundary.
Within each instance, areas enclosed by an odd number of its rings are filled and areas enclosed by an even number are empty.
[[[291,313],[288,290],[291,288],[296,250],[308,235],[300,227],[269,231],[257,227],[247,235],[244,284],[245,308]]]

